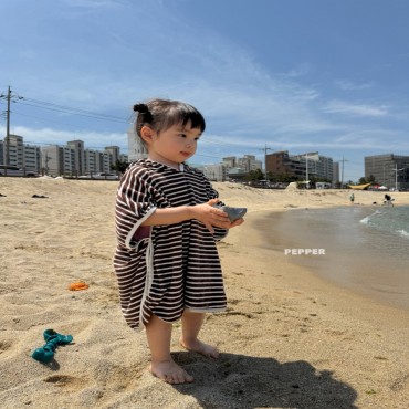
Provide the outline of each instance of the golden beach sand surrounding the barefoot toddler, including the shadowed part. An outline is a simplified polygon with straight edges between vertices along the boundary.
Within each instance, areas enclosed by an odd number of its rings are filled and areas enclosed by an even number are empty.
[[[273,191],[214,183],[249,207],[219,244],[229,308],[209,315],[213,361],[172,350],[196,381],[171,386],[147,370],[145,334],[118,307],[112,268],[116,182],[0,179],[1,408],[409,407],[409,313],[319,280],[265,248],[254,220],[293,207],[350,206],[348,191]],[[46,198],[32,198],[33,195]],[[357,206],[382,193],[355,192]],[[394,193],[409,203],[409,193]],[[82,280],[88,290],[71,292]],[[55,360],[31,353],[42,333],[72,334]]]

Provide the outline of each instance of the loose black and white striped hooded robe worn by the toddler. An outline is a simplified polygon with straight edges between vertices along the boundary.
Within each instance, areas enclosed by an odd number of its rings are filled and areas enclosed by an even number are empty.
[[[127,324],[140,328],[151,314],[171,323],[183,310],[220,312],[226,294],[214,234],[198,220],[145,227],[156,209],[195,206],[218,197],[204,175],[189,166],[177,170],[138,160],[123,176],[115,208],[114,256],[120,307]]]

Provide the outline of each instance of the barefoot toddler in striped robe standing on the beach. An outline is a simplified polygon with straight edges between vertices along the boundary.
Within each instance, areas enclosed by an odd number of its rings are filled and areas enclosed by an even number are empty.
[[[198,334],[204,313],[226,308],[216,240],[243,219],[231,223],[212,207],[217,191],[202,172],[185,165],[206,126],[195,107],[153,99],[134,111],[149,157],[128,167],[117,192],[114,268],[120,306],[132,328],[146,328],[150,371],[169,384],[191,382],[170,355],[172,323],[181,318],[186,349],[219,356]]]

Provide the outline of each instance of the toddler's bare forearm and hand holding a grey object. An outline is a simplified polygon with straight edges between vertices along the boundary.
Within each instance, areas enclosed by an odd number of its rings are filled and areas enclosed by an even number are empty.
[[[211,199],[202,204],[156,209],[155,212],[143,222],[143,226],[175,224],[196,219],[201,221],[211,233],[214,231],[213,226],[221,229],[230,229],[238,226],[235,222],[231,223],[229,217],[222,210],[212,207],[212,204],[216,204],[218,201],[219,199]]]

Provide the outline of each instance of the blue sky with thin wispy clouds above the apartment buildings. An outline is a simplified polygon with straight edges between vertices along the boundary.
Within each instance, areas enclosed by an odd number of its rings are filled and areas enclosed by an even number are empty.
[[[406,0],[14,0],[0,15],[24,143],[126,153],[133,104],[166,97],[207,119],[196,164],[319,151],[347,181],[365,156],[409,155]]]

